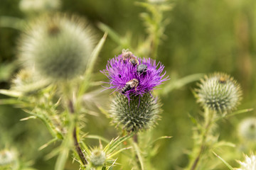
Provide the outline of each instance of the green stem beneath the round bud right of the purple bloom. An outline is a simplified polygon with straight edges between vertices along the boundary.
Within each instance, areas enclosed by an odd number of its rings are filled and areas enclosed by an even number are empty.
[[[214,115],[214,112],[209,111],[208,108],[206,108],[205,123],[204,123],[204,126],[203,126],[203,132],[201,134],[200,149],[199,149],[198,154],[196,155],[196,157],[191,162],[190,166],[188,166],[188,169],[190,169],[190,170],[195,170],[196,169],[196,167],[198,166],[198,162],[200,161],[200,159],[202,157],[202,154],[203,154],[204,150],[206,149],[206,140],[208,138],[210,129],[212,127],[211,125],[213,125],[213,115]]]

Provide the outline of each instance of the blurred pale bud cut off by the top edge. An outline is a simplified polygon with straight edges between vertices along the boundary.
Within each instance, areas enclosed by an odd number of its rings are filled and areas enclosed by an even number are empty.
[[[60,0],[21,0],[19,8],[24,13],[41,13],[60,8]]]

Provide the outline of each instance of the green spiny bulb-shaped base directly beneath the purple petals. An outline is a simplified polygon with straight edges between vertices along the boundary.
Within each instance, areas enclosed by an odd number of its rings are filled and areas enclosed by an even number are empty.
[[[117,94],[111,103],[112,123],[122,126],[127,132],[151,128],[159,119],[161,104],[149,93],[144,96],[130,96],[130,100]]]

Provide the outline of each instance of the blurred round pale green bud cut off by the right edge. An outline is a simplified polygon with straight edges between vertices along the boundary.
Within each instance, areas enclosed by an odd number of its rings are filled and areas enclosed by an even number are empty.
[[[256,118],[245,118],[239,124],[238,133],[243,140],[256,140]]]

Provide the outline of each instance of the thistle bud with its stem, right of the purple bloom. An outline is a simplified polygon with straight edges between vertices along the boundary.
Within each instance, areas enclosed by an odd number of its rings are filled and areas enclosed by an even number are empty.
[[[193,134],[195,141],[187,169],[203,169],[206,162],[201,162],[201,159],[207,159],[215,146],[223,146],[223,142],[218,142],[218,137],[214,134],[215,122],[235,110],[241,95],[240,85],[228,74],[210,74],[198,84],[195,96],[203,107],[203,123],[196,122]]]

